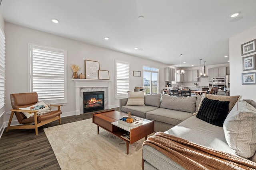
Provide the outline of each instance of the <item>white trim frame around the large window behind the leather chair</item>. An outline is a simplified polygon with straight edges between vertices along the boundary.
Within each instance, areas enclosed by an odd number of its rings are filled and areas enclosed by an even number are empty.
[[[40,49],[46,49],[48,51],[62,51],[64,53],[64,99],[62,101],[60,100],[47,100],[47,102],[51,104],[66,104],[68,102],[68,92],[67,92],[67,50],[65,49],[58,49],[54,47],[48,47],[44,45],[37,45],[33,43],[28,43],[28,92],[33,92],[33,67],[32,67],[32,57],[33,57],[33,47],[39,47]]]

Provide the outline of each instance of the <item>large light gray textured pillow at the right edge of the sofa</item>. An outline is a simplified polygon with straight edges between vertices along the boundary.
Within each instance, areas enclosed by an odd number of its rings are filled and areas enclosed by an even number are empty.
[[[256,152],[256,109],[246,101],[239,101],[223,124],[226,141],[236,154],[244,158]]]

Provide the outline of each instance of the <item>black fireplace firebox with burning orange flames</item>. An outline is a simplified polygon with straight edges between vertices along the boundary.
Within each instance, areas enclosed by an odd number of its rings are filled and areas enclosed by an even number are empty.
[[[84,92],[84,113],[104,110],[104,91]]]

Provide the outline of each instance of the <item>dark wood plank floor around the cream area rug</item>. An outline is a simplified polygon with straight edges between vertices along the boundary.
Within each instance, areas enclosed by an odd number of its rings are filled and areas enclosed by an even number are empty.
[[[119,107],[114,109],[119,111]],[[90,119],[92,113],[95,112],[62,117],[61,124]],[[43,130],[46,127],[56,125],[58,125],[58,121],[39,127],[37,136],[34,129],[9,130],[8,133],[5,129],[0,139],[0,169],[60,170],[58,161]]]

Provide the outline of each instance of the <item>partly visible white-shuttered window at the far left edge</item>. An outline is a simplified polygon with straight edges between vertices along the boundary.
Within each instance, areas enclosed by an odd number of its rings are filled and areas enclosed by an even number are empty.
[[[5,37],[0,27],[0,116],[4,113],[5,104]]]

